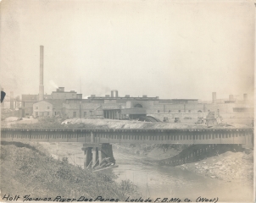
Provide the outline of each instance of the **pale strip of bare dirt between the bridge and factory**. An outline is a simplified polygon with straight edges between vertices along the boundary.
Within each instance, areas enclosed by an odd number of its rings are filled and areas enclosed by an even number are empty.
[[[208,129],[206,125],[195,123],[161,123],[136,120],[84,119],[84,118],[6,118],[3,128],[25,129]],[[243,124],[218,125],[212,128],[233,129],[247,127]]]

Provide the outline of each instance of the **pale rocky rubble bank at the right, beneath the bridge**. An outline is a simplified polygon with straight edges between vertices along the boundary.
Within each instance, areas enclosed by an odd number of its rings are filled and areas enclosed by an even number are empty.
[[[246,154],[227,151],[200,162],[186,163],[176,167],[227,182],[253,184],[253,152]]]

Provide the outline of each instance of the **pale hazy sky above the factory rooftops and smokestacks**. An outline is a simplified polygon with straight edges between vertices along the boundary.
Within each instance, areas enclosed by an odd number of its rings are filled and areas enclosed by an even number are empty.
[[[242,1],[3,0],[1,85],[83,96],[253,94],[254,5]]]

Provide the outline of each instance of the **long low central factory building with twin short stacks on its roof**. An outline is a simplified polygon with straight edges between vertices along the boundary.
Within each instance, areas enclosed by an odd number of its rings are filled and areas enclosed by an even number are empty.
[[[115,92],[111,91],[111,96],[67,99],[64,103],[65,114],[68,118],[136,119],[147,114],[206,112],[205,106],[199,105],[195,99],[160,100],[159,96],[118,96]]]

